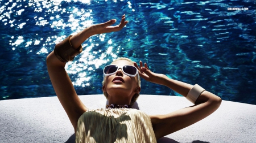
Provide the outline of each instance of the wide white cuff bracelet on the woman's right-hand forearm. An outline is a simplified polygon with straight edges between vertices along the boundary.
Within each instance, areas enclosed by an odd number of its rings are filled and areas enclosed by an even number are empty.
[[[203,89],[201,86],[198,84],[194,85],[193,88],[191,88],[188,92],[187,99],[195,104],[196,99],[201,95],[201,93],[204,92],[205,89]]]

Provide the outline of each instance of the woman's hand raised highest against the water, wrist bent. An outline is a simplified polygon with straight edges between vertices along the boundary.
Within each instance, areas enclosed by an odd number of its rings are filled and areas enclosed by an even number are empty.
[[[112,19],[112,20],[109,20],[105,23],[92,25],[90,27],[91,32],[92,32],[92,34],[101,34],[101,33],[109,33],[109,32],[120,31],[128,23],[128,21],[125,21],[125,15],[122,16],[122,20],[119,23],[119,25],[111,26],[116,21],[117,20]]]

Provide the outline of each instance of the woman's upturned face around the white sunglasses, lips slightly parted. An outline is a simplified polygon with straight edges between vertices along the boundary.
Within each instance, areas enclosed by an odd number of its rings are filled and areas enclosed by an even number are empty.
[[[127,60],[117,60],[113,62],[119,67],[123,66],[134,66]],[[102,86],[102,90],[107,92],[109,96],[112,95],[122,95],[126,97],[133,97],[135,93],[139,93],[141,88],[138,86],[138,79],[135,77],[127,76],[123,73],[122,69],[119,68],[118,71],[114,75],[106,76],[105,85]],[[138,92],[139,88],[139,92]]]

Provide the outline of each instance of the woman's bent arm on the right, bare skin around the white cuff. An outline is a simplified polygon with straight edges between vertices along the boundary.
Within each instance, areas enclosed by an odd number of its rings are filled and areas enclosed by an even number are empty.
[[[144,64],[144,67],[142,62],[140,62],[140,67],[138,67],[137,63],[134,63],[134,66],[138,68],[139,75],[143,79],[152,83],[168,86],[168,88],[175,90],[175,92],[184,97],[187,97],[189,90],[193,88],[193,85],[191,84],[172,80],[166,75],[151,72],[146,63]],[[180,109],[166,115],[150,116],[156,138],[158,139],[170,133],[179,131],[180,129],[204,119],[216,111],[220,104],[220,97],[204,91],[196,99],[195,106]]]

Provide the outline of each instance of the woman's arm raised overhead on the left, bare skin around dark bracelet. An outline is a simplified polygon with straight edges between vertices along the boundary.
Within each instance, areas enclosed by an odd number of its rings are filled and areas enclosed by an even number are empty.
[[[93,36],[94,34],[119,31],[128,23],[128,21],[125,21],[125,15],[122,16],[122,20],[119,25],[110,26],[114,24],[115,21],[116,20],[113,19],[107,21],[106,23],[96,24],[85,28],[83,31],[70,38],[70,44],[72,45],[73,49],[79,49],[82,42],[84,42],[90,36]],[[60,46],[59,48],[62,47]],[[85,111],[88,110],[88,108],[77,96],[72,81],[65,71],[65,62],[61,62],[59,59],[60,58],[56,57],[54,51],[52,51],[47,56],[47,70],[55,93],[59,98],[64,110],[67,112],[68,118],[76,131],[78,119]]]

